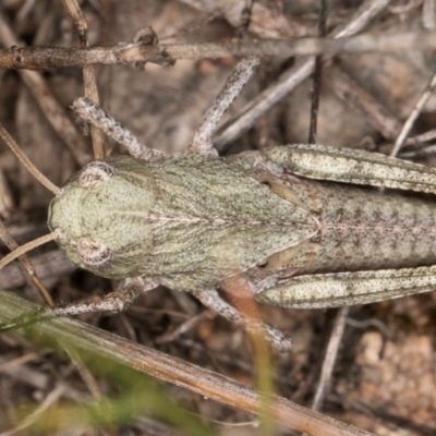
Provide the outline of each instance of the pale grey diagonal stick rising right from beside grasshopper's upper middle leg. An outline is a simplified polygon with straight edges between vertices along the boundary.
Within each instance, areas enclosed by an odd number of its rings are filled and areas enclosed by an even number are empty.
[[[332,36],[335,38],[343,38],[361,32],[389,4],[389,1],[390,0],[366,0],[354,13],[350,22],[344,26],[336,28]],[[340,41],[340,39],[337,41]],[[436,44],[436,40],[434,43]],[[312,74],[314,65],[314,58],[296,61],[292,68],[280,75],[274,85],[262,92],[256,98],[242,108],[240,113],[217,131],[214,145],[218,149],[222,149],[226,144],[247,131],[259,117],[307,78]]]

